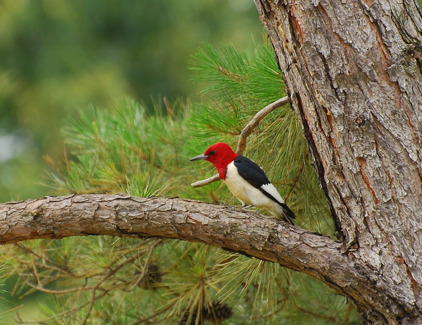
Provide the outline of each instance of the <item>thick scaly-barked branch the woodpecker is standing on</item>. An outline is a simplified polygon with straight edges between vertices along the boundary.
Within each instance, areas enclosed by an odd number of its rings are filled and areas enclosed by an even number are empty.
[[[0,244],[89,235],[216,246],[310,274],[344,295],[356,277],[340,243],[254,212],[179,198],[99,194],[0,204]]]

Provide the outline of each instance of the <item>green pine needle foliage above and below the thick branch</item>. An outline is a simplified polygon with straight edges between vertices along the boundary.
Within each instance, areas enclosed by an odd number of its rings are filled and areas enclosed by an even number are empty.
[[[149,114],[125,98],[113,110],[89,107],[69,119],[67,158],[50,186],[238,204],[221,181],[192,188],[216,171],[189,158],[218,141],[235,147],[257,111],[285,95],[273,50],[204,44],[190,64],[204,84],[202,103],[165,100]],[[333,235],[295,112],[284,106],[268,115],[244,155],[266,171],[299,225]],[[43,324],[360,323],[351,303],[309,276],[201,244],[88,236],[19,243],[3,256],[19,274],[16,294],[53,297]]]

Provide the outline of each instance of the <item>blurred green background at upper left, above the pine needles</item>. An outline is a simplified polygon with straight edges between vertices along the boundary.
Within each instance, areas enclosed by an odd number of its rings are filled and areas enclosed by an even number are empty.
[[[188,60],[201,42],[262,43],[253,0],[1,0],[0,201],[54,193],[60,128],[76,108],[124,95],[198,100]]]

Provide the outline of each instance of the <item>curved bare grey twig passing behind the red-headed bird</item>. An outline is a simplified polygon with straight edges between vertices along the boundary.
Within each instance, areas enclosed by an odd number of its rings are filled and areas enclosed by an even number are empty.
[[[270,114],[272,111],[274,111],[276,108],[279,108],[283,106],[284,104],[287,104],[289,102],[289,97],[285,96],[283,98],[280,98],[279,100],[276,100],[274,103],[271,103],[264,108],[262,108],[257,114],[255,114],[254,118],[251,120],[251,122],[246,125],[239,136],[238,146],[236,149],[237,154],[243,154],[243,152],[246,149],[246,138],[251,135],[251,133],[254,131],[255,127],[260,124],[262,119]],[[214,183],[215,181],[219,181],[221,178],[218,174],[211,176],[207,179],[203,179],[202,181],[195,181],[195,183],[192,183],[192,187],[201,187],[205,186],[211,183]]]

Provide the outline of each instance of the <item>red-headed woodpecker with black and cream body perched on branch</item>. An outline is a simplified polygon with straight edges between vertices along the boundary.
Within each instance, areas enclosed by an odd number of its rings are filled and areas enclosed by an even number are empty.
[[[268,180],[264,171],[255,162],[240,154],[224,142],[210,146],[204,154],[190,161],[207,160],[217,168],[220,178],[230,192],[242,203],[242,208],[262,208],[270,211],[276,219],[294,225],[296,216],[284,203],[276,187]]]

